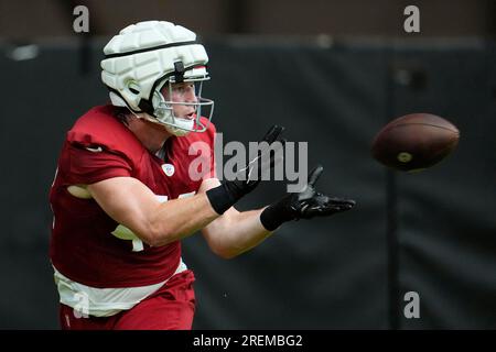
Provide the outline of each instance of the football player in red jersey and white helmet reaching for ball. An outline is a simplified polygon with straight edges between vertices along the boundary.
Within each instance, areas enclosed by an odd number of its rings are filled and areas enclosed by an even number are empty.
[[[132,24],[104,48],[111,105],[90,109],[68,131],[50,193],[51,262],[63,329],[191,329],[194,274],[181,240],[201,230],[212,251],[234,257],[283,222],[328,216],[353,200],[308,187],[252,211],[233,206],[259,184],[257,157],[237,178],[215,177],[214,102],[202,96],[208,57],[192,31],[163,21]],[[281,141],[282,128],[263,138]],[[211,165],[192,178],[209,146]],[[252,173],[256,169],[258,172]],[[258,174],[257,174],[258,175]]]

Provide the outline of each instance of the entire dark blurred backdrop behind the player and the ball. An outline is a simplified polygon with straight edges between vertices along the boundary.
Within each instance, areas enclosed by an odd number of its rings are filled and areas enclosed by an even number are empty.
[[[98,24],[89,41],[72,33],[66,4],[0,1],[0,328],[57,328],[47,191],[64,133],[107,100],[99,81],[107,35],[165,10],[161,18],[205,33],[206,95],[225,141],[254,141],[283,124],[290,140],[309,142],[309,164],[324,165],[320,187],[358,202],[335,218],[284,226],[231,261],[215,257],[200,235],[185,240],[197,276],[195,328],[496,328],[489,1],[419,1],[425,33],[413,37],[401,31],[402,1],[284,2],[284,11],[280,1],[150,1],[119,11],[117,1],[86,2]],[[20,59],[22,51],[32,58]],[[421,174],[388,172],[370,158],[370,141],[387,121],[416,111],[456,124],[459,148]],[[283,188],[262,185],[240,208],[272,201]],[[420,319],[402,315],[411,290]]]

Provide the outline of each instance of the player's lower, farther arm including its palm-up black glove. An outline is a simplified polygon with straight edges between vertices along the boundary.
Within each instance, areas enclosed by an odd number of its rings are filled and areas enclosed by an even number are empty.
[[[203,229],[209,248],[230,258],[258,245],[287,221],[326,217],[352,209],[354,200],[328,197],[315,190],[322,170],[319,166],[310,173],[309,184],[302,191],[289,194],[263,209],[239,212],[230,208]],[[202,186],[207,189],[217,184],[218,180],[212,179]]]

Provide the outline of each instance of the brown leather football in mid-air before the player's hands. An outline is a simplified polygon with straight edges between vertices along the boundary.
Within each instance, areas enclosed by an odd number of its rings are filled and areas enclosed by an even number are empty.
[[[418,172],[441,162],[459,144],[456,127],[430,113],[398,118],[377,133],[371,153],[381,164],[403,172]]]

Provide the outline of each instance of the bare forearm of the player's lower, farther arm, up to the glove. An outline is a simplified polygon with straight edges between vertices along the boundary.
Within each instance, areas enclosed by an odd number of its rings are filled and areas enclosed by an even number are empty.
[[[235,257],[263,242],[271,232],[260,223],[262,209],[229,211],[205,230],[208,245],[219,256]]]

